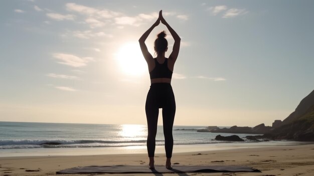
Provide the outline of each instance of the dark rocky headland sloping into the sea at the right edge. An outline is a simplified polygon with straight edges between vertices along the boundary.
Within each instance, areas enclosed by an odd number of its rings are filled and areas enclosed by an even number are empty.
[[[301,100],[294,112],[283,121],[275,120],[272,126],[265,126],[264,123],[255,127],[208,126],[205,129],[199,129],[198,132],[262,134],[246,136],[247,139],[256,141],[261,139],[314,141],[314,90]]]

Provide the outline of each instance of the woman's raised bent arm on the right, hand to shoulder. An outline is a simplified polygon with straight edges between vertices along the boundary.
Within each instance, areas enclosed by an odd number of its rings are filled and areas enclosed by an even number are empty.
[[[161,22],[168,28],[170,34],[172,35],[172,37],[175,39],[175,44],[174,44],[174,48],[172,50],[172,53],[169,56],[169,59],[173,61],[173,63],[176,62],[178,55],[179,55],[179,50],[180,50],[180,41],[181,38],[178,36],[178,34],[176,33],[175,30],[173,30],[170,25],[166,22],[166,20],[163,17],[163,11],[159,12],[159,17],[161,18]]]

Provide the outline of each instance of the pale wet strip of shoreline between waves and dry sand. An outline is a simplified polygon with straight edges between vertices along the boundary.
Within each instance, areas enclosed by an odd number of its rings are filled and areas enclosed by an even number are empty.
[[[299,141],[267,141],[267,142],[221,142],[209,144],[174,145],[174,153],[228,150],[236,148],[256,148],[286,145],[314,144],[313,142]],[[121,147],[78,147],[78,148],[21,148],[1,149],[2,157],[19,156],[77,156],[77,155],[105,155],[105,154],[141,154],[146,153],[146,146]],[[164,145],[156,145],[155,153],[165,153]]]

